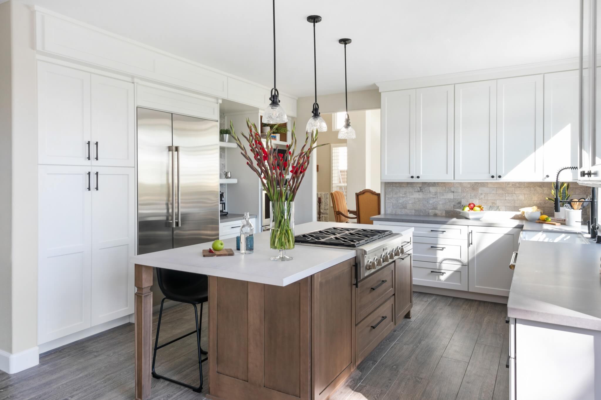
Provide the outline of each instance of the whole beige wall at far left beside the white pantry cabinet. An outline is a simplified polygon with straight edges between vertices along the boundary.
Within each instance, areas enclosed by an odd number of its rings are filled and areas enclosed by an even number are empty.
[[[0,58],[6,64],[7,13],[10,14],[10,68],[2,65],[0,80],[10,79],[10,99],[2,83],[2,109],[10,101],[10,122],[2,112],[0,133],[3,188],[0,221],[0,345],[8,353],[37,346],[37,65],[34,14],[23,4],[0,5]],[[8,160],[8,161],[7,161]],[[8,165],[10,163],[10,165]],[[5,168],[6,167],[6,168]],[[10,246],[10,250],[7,250]],[[8,290],[6,286],[9,286]],[[7,294],[8,291],[8,300]],[[8,320],[8,323],[7,323]]]

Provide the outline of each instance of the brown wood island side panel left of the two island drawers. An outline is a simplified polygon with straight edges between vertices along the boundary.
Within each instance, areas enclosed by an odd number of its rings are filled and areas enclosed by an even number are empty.
[[[313,399],[328,398],[355,368],[353,262],[344,261],[313,278]]]

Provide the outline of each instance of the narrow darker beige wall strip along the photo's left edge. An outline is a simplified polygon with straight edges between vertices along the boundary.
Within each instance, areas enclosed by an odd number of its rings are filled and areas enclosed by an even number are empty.
[[[10,2],[0,4],[0,350],[11,352]]]

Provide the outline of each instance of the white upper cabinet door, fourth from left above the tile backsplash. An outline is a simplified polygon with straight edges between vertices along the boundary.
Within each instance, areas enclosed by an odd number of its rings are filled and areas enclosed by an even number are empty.
[[[497,80],[496,174],[504,181],[543,176],[543,76]]]

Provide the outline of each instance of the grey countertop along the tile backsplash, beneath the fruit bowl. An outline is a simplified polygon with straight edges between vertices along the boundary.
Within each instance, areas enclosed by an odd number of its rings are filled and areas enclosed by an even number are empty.
[[[581,232],[585,233],[587,227],[574,227],[567,225],[548,225],[537,224],[536,222],[526,221],[526,219],[510,218],[511,213],[489,212],[483,219],[453,218],[450,216],[436,215],[409,215],[409,214],[380,214],[372,216],[372,221],[389,222],[409,222],[415,224],[444,224],[444,225],[471,225],[471,226],[490,226],[503,228],[520,228],[533,231],[562,231],[562,232]]]

